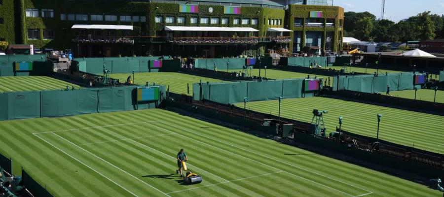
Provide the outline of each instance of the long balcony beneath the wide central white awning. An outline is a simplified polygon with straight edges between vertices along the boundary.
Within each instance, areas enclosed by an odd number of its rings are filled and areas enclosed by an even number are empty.
[[[168,37],[171,44],[257,44],[271,42],[271,37]]]

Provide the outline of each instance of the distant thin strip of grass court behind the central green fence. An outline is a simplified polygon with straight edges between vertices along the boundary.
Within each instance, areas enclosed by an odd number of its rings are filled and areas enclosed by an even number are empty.
[[[259,68],[252,69],[246,69],[250,76],[259,76]],[[226,71],[226,70],[225,70]],[[230,72],[236,71],[242,72],[242,69],[232,69],[229,70]],[[252,72],[253,74],[251,74]],[[310,78],[315,77],[314,74],[307,74],[307,73],[300,73],[300,72],[292,72],[292,71],[285,71],[285,70],[277,70],[277,69],[267,69],[267,74],[265,75],[265,69],[260,69],[260,76],[262,77],[268,77],[271,79],[291,79],[291,78],[306,78],[307,75],[310,75]],[[327,76],[317,75],[317,78],[328,78]]]

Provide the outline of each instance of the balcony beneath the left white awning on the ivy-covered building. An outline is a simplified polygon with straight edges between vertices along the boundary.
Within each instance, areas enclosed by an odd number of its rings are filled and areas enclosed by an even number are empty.
[[[74,36],[74,43],[97,43],[97,44],[134,44],[134,40],[122,36],[96,36],[96,35],[78,35]]]

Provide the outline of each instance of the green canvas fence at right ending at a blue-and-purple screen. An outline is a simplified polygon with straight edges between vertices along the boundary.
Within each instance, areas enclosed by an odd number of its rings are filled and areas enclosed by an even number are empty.
[[[365,93],[385,92],[387,85],[392,91],[412,90],[413,72],[388,73],[386,75],[341,75],[333,77],[333,91],[350,90]]]

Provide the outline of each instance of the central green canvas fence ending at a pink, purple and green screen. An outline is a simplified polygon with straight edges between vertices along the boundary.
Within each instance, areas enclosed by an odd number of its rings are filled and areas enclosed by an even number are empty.
[[[281,79],[268,81],[237,81],[193,84],[193,99],[207,99],[219,103],[236,103],[302,97],[313,97],[317,91],[304,92],[304,80]],[[321,83],[322,85],[322,79]]]

